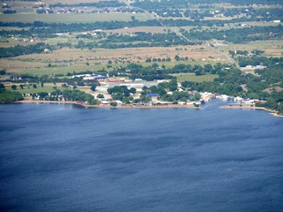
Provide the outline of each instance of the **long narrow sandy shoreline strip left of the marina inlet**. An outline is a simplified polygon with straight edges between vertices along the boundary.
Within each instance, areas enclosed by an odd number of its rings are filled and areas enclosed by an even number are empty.
[[[118,108],[118,109],[174,109],[174,108],[189,108],[189,109],[199,109],[194,105],[190,104],[172,104],[172,105],[118,105],[117,107],[112,107],[111,105],[88,105],[81,102],[75,101],[42,101],[42,100],[22,100],[14,103],[57,103],[57,104],[76,104],[85,108]]]

